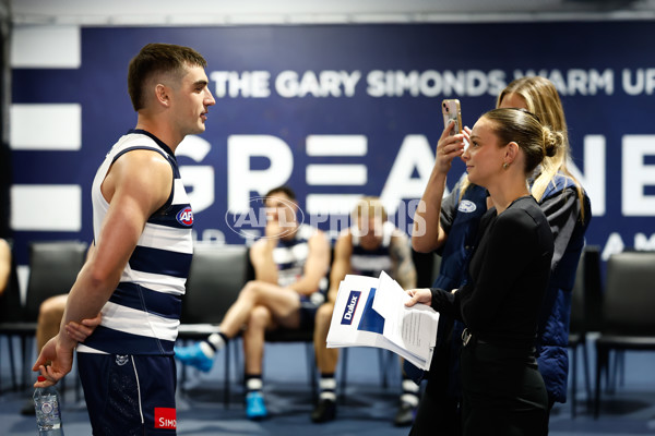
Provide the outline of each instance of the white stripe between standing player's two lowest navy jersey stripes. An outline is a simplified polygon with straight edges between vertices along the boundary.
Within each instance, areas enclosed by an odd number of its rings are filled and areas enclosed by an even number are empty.
[[[145,322],[144,322],[145,316]],[[175,341],[179,319],[169,319],[152,313],[121,306],[108,301],[103,307],[102,326],[130,335],[147,336]]]

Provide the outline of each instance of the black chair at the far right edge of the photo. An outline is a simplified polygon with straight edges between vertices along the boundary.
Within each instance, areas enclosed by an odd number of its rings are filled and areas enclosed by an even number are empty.
[[[616,350],[655,351],[655,252],[624,252],[607,262],[603,326],[596,340],[594,417],[600,409],[600,378]]]

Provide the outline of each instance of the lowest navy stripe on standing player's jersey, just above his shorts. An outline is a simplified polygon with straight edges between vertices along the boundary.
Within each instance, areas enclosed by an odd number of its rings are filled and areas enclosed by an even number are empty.
[[[93,335],[86,338],[84,344],[110,354],[172,355],[175,342],[97,326]]]

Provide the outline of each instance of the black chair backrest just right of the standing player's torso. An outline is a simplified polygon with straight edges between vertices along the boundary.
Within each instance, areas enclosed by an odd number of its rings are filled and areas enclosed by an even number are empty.
[[[245,245],[196,245],[182,300],[181,322],[221,323],[246,283],[247,268]]]

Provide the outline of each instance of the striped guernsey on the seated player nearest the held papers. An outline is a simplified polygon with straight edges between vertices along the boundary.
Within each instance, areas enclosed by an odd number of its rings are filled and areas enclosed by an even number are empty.
[[[393,277],[393,261],[391,259],[391,238],[396,231],[395,226],[385,221],[382,226],[382,243],[376,250],[364,250],[359,242],[359,229],[350,228],[353,234],[353,254],[350,254],[350,269],[353,274],[369,277],[379,277],[384,271]]]

